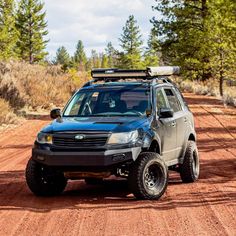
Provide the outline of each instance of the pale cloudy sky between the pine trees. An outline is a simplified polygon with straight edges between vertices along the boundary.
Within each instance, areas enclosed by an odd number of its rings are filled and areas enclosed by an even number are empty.
[[[150,19],[155,0],[44,0],[48,21],[47,51],[53,58],[60,46],[74,54],[78,40],[82,40],[87,55],[92,49],[104,51],[107,43],[119,49],[122,27],[133,14],[146,42],[152,27]]]

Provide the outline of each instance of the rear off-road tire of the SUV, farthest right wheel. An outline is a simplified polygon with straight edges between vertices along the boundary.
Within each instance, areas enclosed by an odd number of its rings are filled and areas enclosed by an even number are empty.
[[[194,141],[188,141],[183,164],[180,165],[180,177],[184,183],[193,183],[199,177],[199,155]]]

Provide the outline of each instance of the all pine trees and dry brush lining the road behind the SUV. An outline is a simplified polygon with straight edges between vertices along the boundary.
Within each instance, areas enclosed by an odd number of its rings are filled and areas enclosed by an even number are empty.
[[[0,1],[0,124],[24,110],[62,106],[92,68],[180,65],[183,91],[217,96],[236,105],[236,4],[234,0],[153,0],[147,42],[134,15],[120,29],[117,49],[73,55],[61,45],[48,59],[46,11],[41,0]],[[29,26],[29,27],[28,27]]]

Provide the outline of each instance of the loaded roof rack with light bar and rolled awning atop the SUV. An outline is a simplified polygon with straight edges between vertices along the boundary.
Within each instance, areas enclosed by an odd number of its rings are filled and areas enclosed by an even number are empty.
[[[112,82],[117,80],[128,80],[135,79],[141,81],[150,80],[154,82],[161,80],[163,83],[170,82],[166,77],[170,75],[177,75],[180,73],[180,67],[178,66],[158,66],[158,67],[147,67],[146,70],[124,70],[116,68],[100,68],[93,69],[91,76],[93,80],[87,82],[83,87],[89,86],[92,83],[98,81]]]

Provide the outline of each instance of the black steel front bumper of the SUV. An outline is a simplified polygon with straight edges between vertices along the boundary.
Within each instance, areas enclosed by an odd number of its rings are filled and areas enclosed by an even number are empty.
[[[32,149],[32,158],[55,167],[109,167],[134,161],[140,152],[141,147],[96,152],[63,152],[35,147]]]

